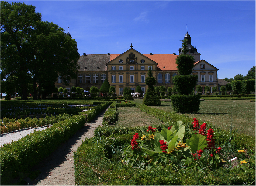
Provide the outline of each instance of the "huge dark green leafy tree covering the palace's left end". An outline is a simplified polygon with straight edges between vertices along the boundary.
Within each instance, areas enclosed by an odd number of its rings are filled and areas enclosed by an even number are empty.
[[[1,1],[1,73],[17,77],[23,99],[29,82],[37,99],[42,84],[52,84],[58,74],[75,78],[78,59],[76,42],[58,25],[42,22],[34,6]]]

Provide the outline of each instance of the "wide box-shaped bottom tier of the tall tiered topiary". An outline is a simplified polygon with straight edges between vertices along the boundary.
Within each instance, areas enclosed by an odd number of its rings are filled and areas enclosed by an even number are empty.
[[[174,112],[195,113],[200,110],[199,95],[172,95],[171,102]]]

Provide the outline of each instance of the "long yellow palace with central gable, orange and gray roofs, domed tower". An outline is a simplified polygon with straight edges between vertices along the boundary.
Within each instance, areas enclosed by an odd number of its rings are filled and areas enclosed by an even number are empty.
[[[70,36],[69,33],[67,35]],[[70,36],[71,37],[71,36]],[[191,45],[191,37],[188,32],[184,39],[188,40],[189,55],[194,56],[195,66],[193,68],[193,75],[198,75],[198,85],[202,86],[202,93],[205,94],[205,86],[210,87],[210,94],[212,94],[212,87],[218,85],[217,71],[218,69],[213,65],[201,60],[201,54],[197,49]],[[179,48],[179,54],[182,54]],[[135,92],[138,85],[141,86],[142,92],[145,93],[147,85],[145,78],[147,71],[152,69],[153,77],[157,80],[155,86],[173,87],[172,77],[179,75],[177,64],[177,54],[141,54],[133,49],[131,44],[130,49],[122,54],[83,54],[78,60],[80,69],[77,71],[77,79],[70,79],[69,86],[62,82],[62,77],[59,76],[55,82],[56,87],[63,87],[68,89],[70,94],[71,87],[82,87],[89,91],[92,86],[101,88],[105,79],[111,86],[116,87],[116,94],[123,95],[125,87],[128,87]],[[196,93],[196,90],[195,90]]]

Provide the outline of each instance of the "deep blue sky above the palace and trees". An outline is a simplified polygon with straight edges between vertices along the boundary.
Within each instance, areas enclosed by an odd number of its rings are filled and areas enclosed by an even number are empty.
[[[13,1],[8,1],[9,3]],[[80,55],[178,54],[188,33],[218,78],[246,75],[255,66],[256,1],[15,1],[36,6],[42,21],[57,24]]]

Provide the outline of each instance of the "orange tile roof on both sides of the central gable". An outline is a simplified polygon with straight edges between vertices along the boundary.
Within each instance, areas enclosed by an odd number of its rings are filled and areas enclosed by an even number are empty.
[[[111,54],[110,61],[118,57],[120,54]],[[158,63],[158,70],[178,70],[176,64],[177,55],[173,54],[143,54],[149,59]],[[165,68],[164,68],[165,67]]]

